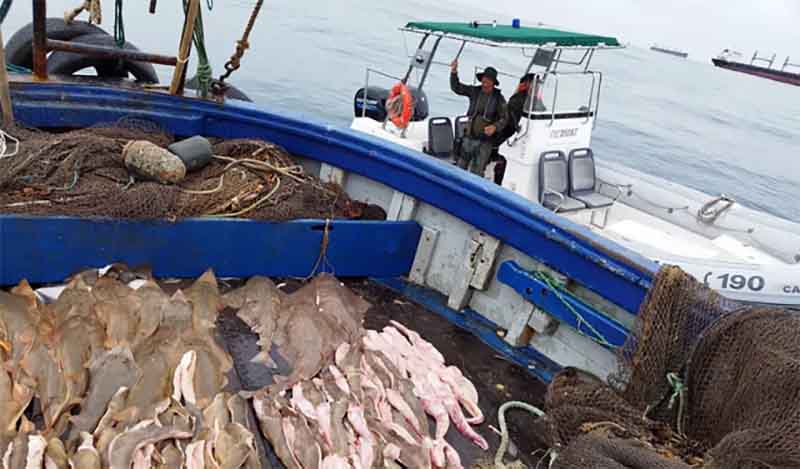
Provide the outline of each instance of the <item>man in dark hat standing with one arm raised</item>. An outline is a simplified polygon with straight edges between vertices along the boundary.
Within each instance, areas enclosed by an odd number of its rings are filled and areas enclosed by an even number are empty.
[[[469,98],[469,123],[464,131],[456,162],[462,169],[483,177],[494,147],[495,136],[508,122],[506,99],[497,88],[497,70],[486,67],[477,74],[479,86],[468,86],[458,79],[458,60],[450,64],[450,88],[460,96]]]

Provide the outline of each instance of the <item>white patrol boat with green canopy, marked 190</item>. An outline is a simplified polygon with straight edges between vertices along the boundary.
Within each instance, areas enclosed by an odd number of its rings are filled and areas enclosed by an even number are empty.
[[[388,91],[374,86],[376,72],[370,69],[356,95],[351,128],[447,159],[466,116],[428,111],[433,104],[423,88],[439,43],[459,41],[461,51],[467,44],[519,50],[527,66],[501,73],[534,73],[535,86],[517,133],[499,148],[507,159],[505,189],[647,258],[679,265],[732,299],[800,304],[800,224],[726,195],[705,194],[605,162],[602,154],[592,152],[603,75],[589,66],[596,51],[620,48],[616,39],[496,23],[409,23],[401,30],[422,35],[400,78],[416,99],[411,122],[401,129],[386,119],[382,106]],[[415,68],[422,73],[412,83]],[[567,82],[585,93],[559,93],[559,83],[564,89]],[[533,93],[544,95],[546,110],[533,108]]]

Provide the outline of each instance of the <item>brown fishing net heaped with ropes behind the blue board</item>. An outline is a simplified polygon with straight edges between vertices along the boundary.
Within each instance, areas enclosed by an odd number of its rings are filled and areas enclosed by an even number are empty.
[[[5,131],[20,143],[15,155],[0,159],[0,213],[274,221],[385,216],[306,174],[286,150],[261,140],[219,141],[207,166],[165,185],[133,178],[124,164],[130,141],[174,142],[153,122],[123,119],[64,133]]]

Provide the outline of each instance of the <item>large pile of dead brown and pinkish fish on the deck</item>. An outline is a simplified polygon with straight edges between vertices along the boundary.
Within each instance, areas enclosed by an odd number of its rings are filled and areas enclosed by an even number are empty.
[[[530,379],[511,375],[500,393],[501,383],[478,381],[494,394],[479,406],[474,364],[465,376],[399,322],[365,330],[370,305],[333,277],[291,295],[258,277],[220,290],[210,272],[178,289],[112,269],[74,276],[51,303],[25,282],[0,293],[6,466],[262,467],[260,428],[267,453],[288,468],[455,469],[490,458],[498,438],[483,414],[493,418],[497,399],[531,397]],[[249,325],[255,348],[225,340],[241,338],[231,335],[236,322]],[[441,323],[419,325],[453,327]],[[443,351],[462,365],[458,347]],[[247,366],[269,370],[256,391],[242,391]],[[530,458],[524,448],[520,456]]]

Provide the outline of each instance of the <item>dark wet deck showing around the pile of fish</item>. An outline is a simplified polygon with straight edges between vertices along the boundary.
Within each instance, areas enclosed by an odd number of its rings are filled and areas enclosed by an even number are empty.
[[[297,280],[276,281],[290,293],[301,286]],[[394,291],[371,280],[351,280],[345,284],[372,304],[367,311],[364,326],[380,330],[389,320],[404,323],[419,332],[444,355],[448,364],[461,369],[464,376],[475,385],[480,396],[479,406],[486,421],[475,427],[489,442],[488,452],[464,438],[453,425],[446,439],[458,450],[464,467],[490,463],[500,444],[500,436],[493,431],[499,429],[497,410],[508,401],[519,400],[542,407],[546,386],[536,380],[527,370],[507,361],[476,337],[450,323],[445,318],[430,312]],[[232,284],[231,287],[235,286]],[[177,288],[177,286],[175,287]],[[218,321],[218,331],[226,349],[232,355],[236,380],[240,389],[254,390],[272,383],[273,373],[264,365],[250,360],[258,353],[258,337],[250,331],[232,310],[226,310]],[[279,363],[280,365],[280,363]],[[429,418],[430,419],[430,418]],[[433,420],[430,420],[433,424]],[[511,441],[518,449],[517,457],[528,467],[535,467],[546,446],[535,432],[532,416],[521,412],[509,412],[507,422]],[[273,467],[283,467],[266,441],[268,461]]]

